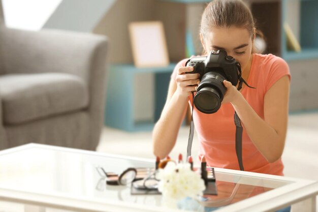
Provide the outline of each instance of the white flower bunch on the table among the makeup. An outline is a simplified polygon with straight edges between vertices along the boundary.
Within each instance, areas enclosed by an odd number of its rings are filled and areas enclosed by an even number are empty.
[[[166,198],[195,198],[205,190],[201,175],[192,171],[188,163],[176,165],[174,162],[168,162],[164,169],[159,169],[157,177],[160,179],[158,190]]]

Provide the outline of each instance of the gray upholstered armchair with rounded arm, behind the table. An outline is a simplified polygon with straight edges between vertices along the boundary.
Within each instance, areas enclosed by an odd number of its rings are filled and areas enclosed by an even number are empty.
[[[0,27],[0,149],[94,150],[104,118],[107,39]]]

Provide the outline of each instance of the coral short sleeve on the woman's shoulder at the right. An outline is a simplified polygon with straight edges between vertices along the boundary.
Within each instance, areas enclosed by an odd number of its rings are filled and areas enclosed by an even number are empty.
[[[282,58],[274,56],[273,62],[268,73],[268,80],[266,83],[266,90],[269,90],[275,82],[283,76],[288,76],[291,80],[291,73],[288,64]]]

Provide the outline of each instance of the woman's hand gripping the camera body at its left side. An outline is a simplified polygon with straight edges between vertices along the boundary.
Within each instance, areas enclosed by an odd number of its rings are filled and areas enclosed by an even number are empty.
[[[180,67],[176,76],[177,90],[176,92],[182,97],[188,97],[193,91],[197,90],[200,83],[200,74],[187,74],[192,72],[194,68],[192,66]]]

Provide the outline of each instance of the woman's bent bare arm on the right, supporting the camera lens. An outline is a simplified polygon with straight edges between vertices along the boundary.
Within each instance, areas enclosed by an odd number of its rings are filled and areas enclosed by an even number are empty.
[[[225,81],[227,100],[232,103],[244,128],[262,155],[270,163],[283,152],[288,121],[288,76],[277,80],[264,97],[264,120],[253,110],[243,95],[231,82]]]

